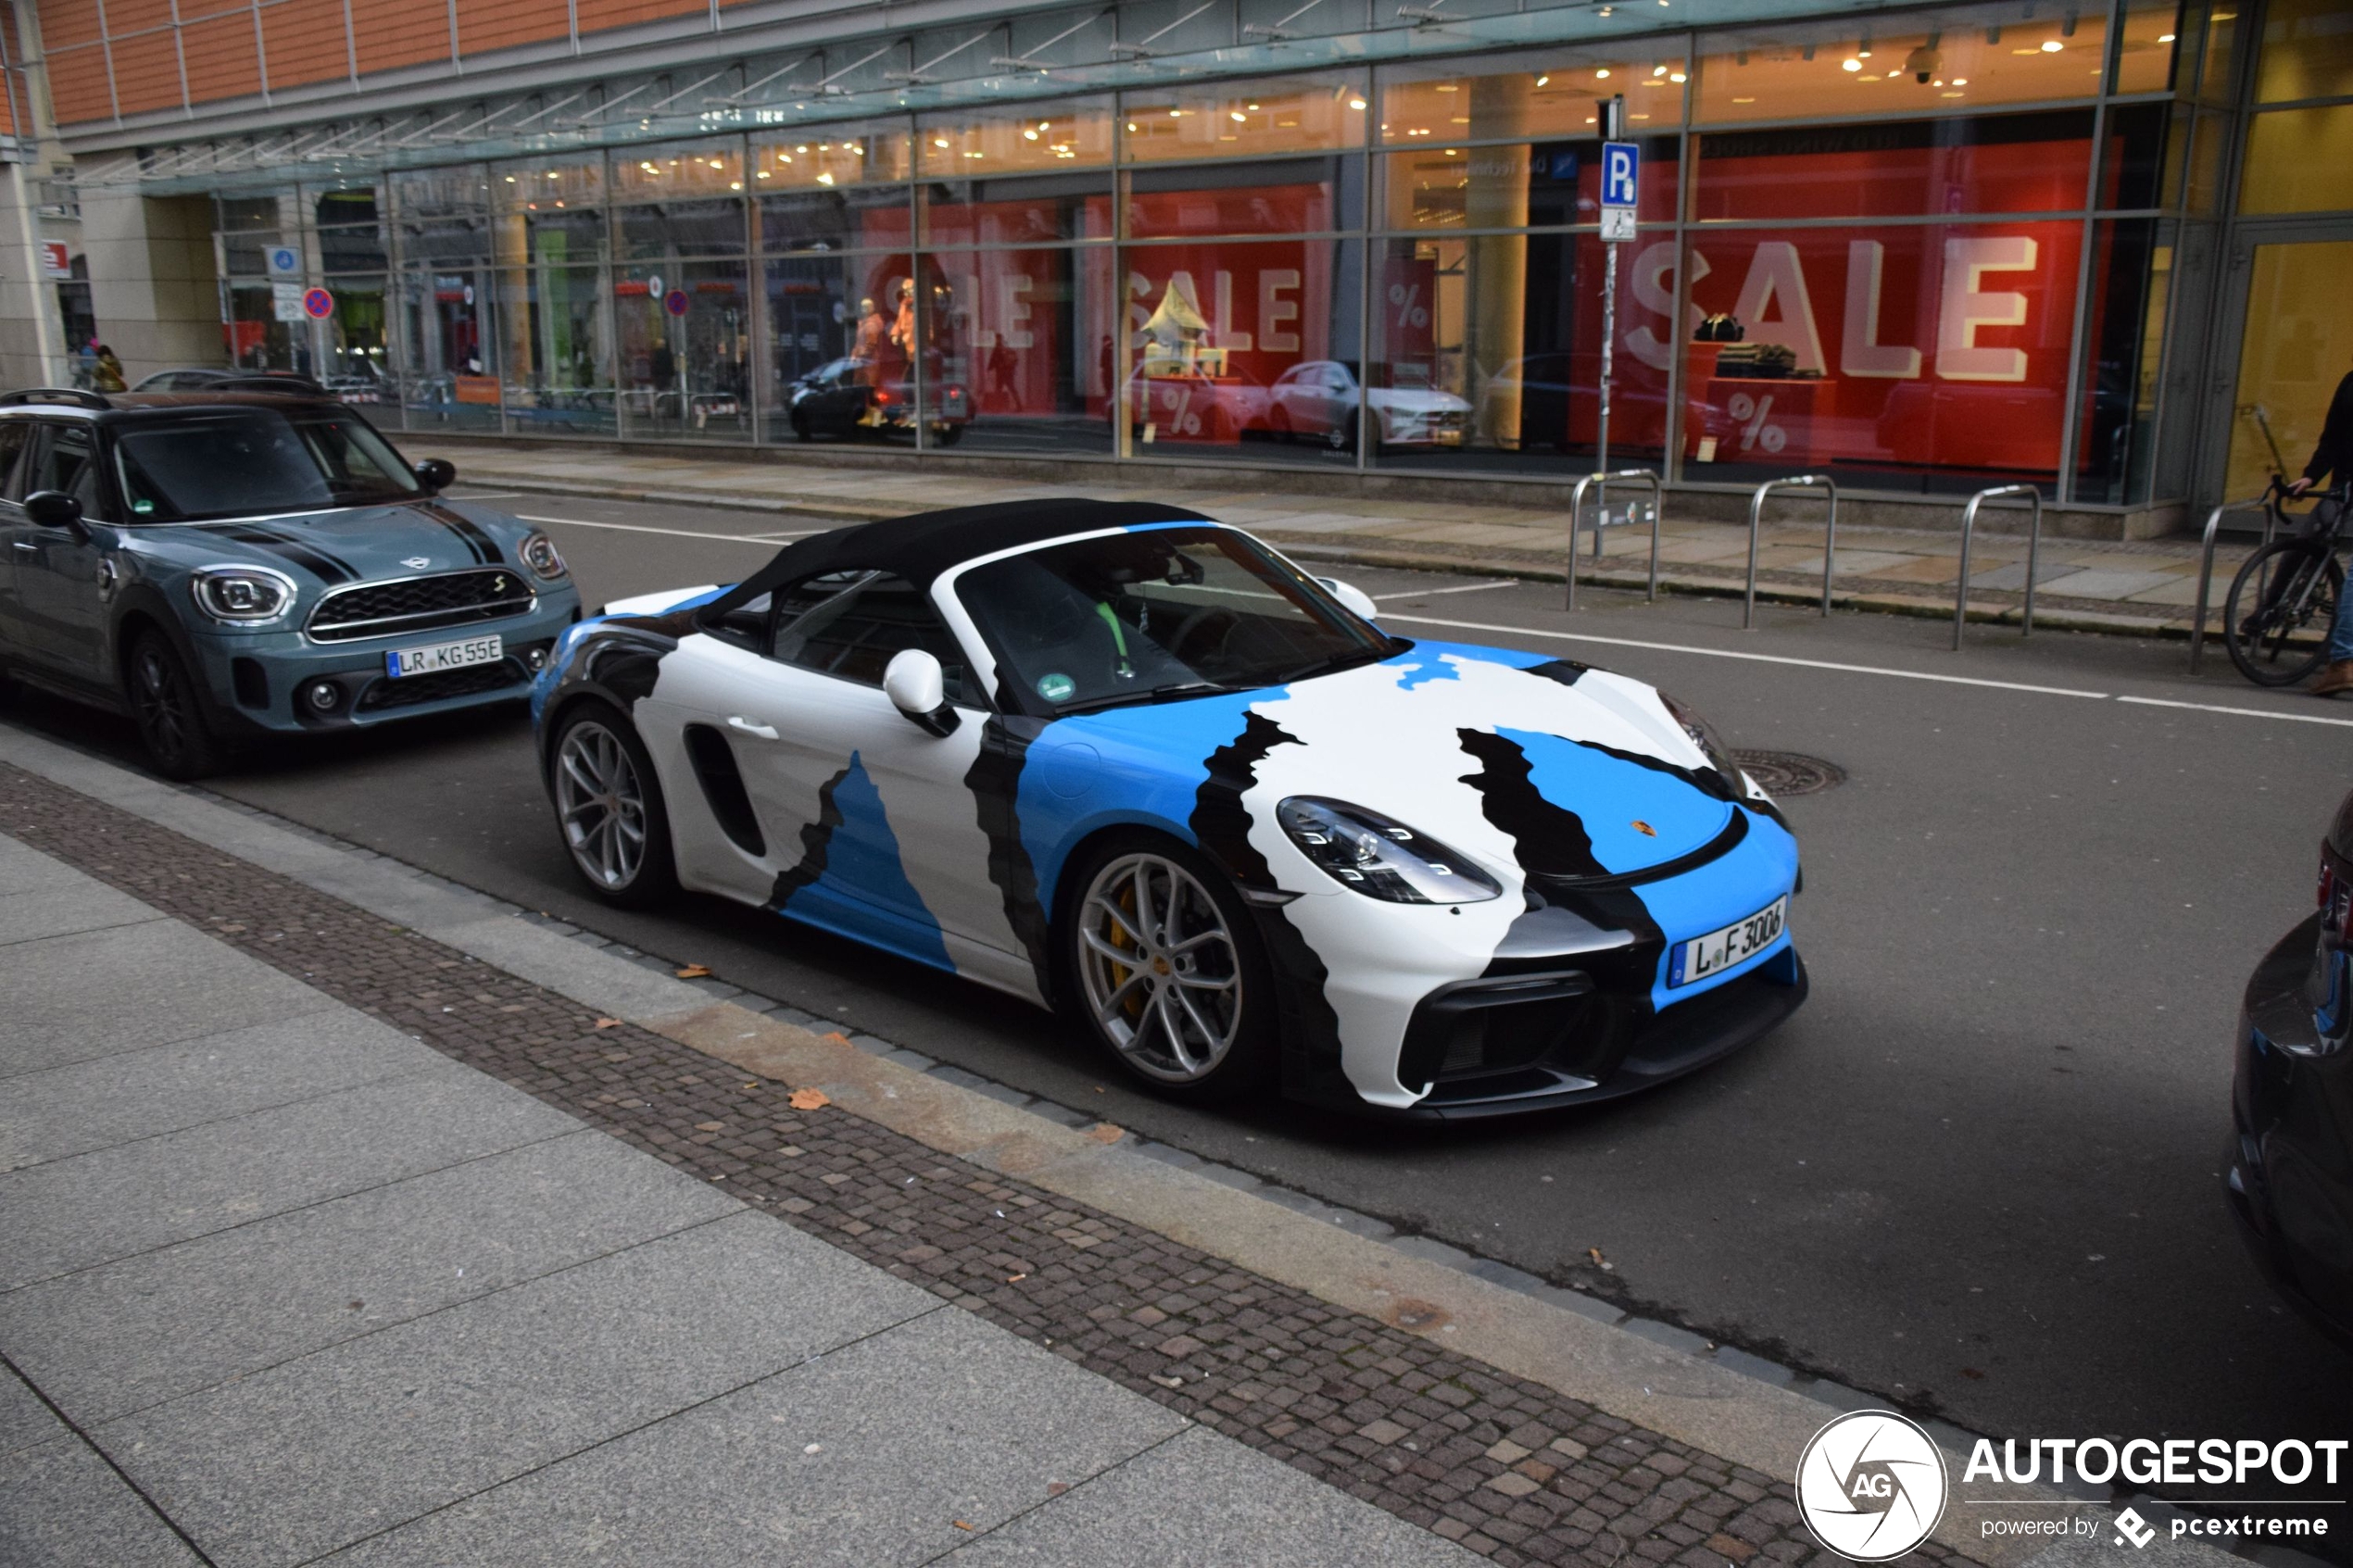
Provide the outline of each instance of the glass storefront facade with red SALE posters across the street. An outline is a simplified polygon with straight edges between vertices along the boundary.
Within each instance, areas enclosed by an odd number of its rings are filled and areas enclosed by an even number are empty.
[[[1612,465],[2137,508],[2202,440],[2226,205],[2353,207],[2285,150],[2353,146],[2315,40],[2009,0],[409,169],[221,197],[224,339],[409,430],[1579,475],[1624,96]]]

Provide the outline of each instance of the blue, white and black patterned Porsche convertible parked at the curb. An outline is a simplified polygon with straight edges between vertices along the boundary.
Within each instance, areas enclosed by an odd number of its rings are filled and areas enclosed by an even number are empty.
[[[532,693],[595,893],[1059,1004],[1169,1093],[1602,1100],[1805,999],[1798,842],[1689,710],[1198,512],[925,512],[609,611]]]

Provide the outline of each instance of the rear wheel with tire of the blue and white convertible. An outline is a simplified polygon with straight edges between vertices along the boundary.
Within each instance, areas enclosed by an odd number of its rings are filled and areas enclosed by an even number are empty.
[[[595,788],[600,778],[602,790]],[[621,910],[645,910],[678,893],[661,778],[621,710],[581,703],[565,712],[548,748],[548,804],[565,856],[591,893]]]

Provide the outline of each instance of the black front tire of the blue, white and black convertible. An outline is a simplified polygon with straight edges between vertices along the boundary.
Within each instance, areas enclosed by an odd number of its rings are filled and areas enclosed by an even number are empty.
[[[1136,929],[1122,931],[1120,936],[1127,940],[1125,950],[1139,952],[1139,957],[1148,954],[1155,961],[1148,966],[1120,966],[1111,964],[1099,950],[1087,945],[1087,933],[1099,931],[1099,926],[1089,926],[1089,903],[1101,879],[1111,877],[1113,886],[1118,886],[1122,867],[1132,867],[1139,860],[1179,870],[1188,879],[1186,889],[1176,889],[1186,896],[1188,912],[1162,922],[1158,933],[1141,933]],[[1160,886],[1172,884],[1162,882]],[[1064,889],[1064,907],[1054,922],[1056,992],[1061,1011],[1080,1030],[1085,1030],[1120,1065],[1122,1072],[1160,1095],[1200,1105],[1235,1100],[1273,1086],[1275,1070],[1280,1065],[1280,1006],[1275,1001],[1275,973],[1266,959],[1264,945],[1259,943],[1257,919],[1252,917],[1249,905],[1242,903],[1242,896],[1226,879],[1226,872],[1221,872],[1198,849],[1172,837],[1158,832],[1122,832],[1099,839],[1085,856],[1073,860]],[[1191,903],[1193,893],[1200,896],[1200,903]],[[1153,938],[1165,938],[1169,926],[1176,926],[1181,938],[1202,936],[1207,926],[1207,922],[1200,919],[1207,912],[1202,905],[1214,907],[1224,945],[1209,943],[1205,947],[1193,947],[1191,952],[1176,950],[1172,954],[1174,964],[1162,961],[1160,954],[1148,950],[1148,943]],[[1134,903],[1122,907],[1134,910]],[[1094,914],[1099,924],[1106,919],[1106,912],[1101,910]],[[1092,978],[1089,961],[1099,966]],[[1158,976],[1153,971],[1158,971]],[[1113,1006],[1104,1009],[1099,1001],[1104,999],[1106,987],[1113,987],[1113,973],[1127,973],[1129,980],[1111,990]],[[1231,980],[1233,997],[1231,1016],[1217,1004],[1217,999],[1228,994],[1221,985],[1226,980]],[[1127,997],[1122,1001],[1120,992],[1129,985],[1146,987],[1151,1001],[1139,1001],[1136,997]],[[1200,997],[1205,1001],[1193,1009],[1186,1009],[1184,1001],[1174,1001],[1162,1013],[1158,1006],[1162,992],[1172,997]],[[1118,1018],[1118,1027],[1127,1030],[1129,1039],[1122,1041],[1106,1018]],[[1174,1053],[1165,1048],[1167,1034],[1158,1032],[1160,1018],[1176,1018],[1179,1032],[1195,1046],[1202,1046],[1205,1037],[1191,1027],[1193,1020],[1209,1018],[1212,1027],[1231,1023],[1226,1034],[1228,1044],[1224,1044],[1214,1058],[1212,1051],[1202,1048],[1200,1053],[1212,1060],[1207,1060],[1200,1070],[1186,1072]]]

